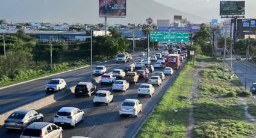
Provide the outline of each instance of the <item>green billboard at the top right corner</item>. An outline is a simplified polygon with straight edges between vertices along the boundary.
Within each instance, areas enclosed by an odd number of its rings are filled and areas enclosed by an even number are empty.
[[[220,16],[245,15],[245,1],[220,1]]]

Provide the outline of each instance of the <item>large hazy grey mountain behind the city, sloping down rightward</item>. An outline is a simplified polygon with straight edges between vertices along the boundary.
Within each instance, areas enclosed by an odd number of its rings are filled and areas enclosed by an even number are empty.
[[[0,19],[8,22],[51,23],[103,23],[98,15],[98,0],[0,0]],[[175,5],[173,5],[175,7]],[[110,25],[120,23],[145,23],[148,17],[173,20],[174,15],[186,17],[192,23],[208,19],[184,13],[153,0],[127,0],[125,18],[108,18]]]

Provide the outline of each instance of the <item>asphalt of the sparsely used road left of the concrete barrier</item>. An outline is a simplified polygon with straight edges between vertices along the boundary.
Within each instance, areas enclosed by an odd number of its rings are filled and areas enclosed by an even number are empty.
[[[139,57],[137,55],[138,54],[136,53],[134,61],[139,61],[140,59],[146,57]],[[128,64],[131,64],[131,62],[126,62],[126,64],[116,64],[115,60],[110,60],[107,62],[94,64],[93,67],[96,67],[96,65],[105,65],[105,67],[107,67],[107,71],[109,72],[113,71],[117,67],[123,68],[125,65]],[[50,95],[51,92],[46,94],[45,85],[49,82],[49,80],[54,78],[63,78],[67,83],[67,88],[75,86],[77,83],[82,81],[90,82],[90,67],[69,71],[67,73],[61,73],[43,79],[37,79],[32,82],[12,86],[10,88],[0,89],[0,114],[16,107],[22,106],[23,104],[30,103],[31,101],[36,101],[40,98]]]

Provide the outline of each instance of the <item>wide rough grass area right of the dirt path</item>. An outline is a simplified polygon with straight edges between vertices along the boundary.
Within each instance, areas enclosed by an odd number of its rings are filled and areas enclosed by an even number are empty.
[[[231,82],[225,68],[222,78],[221,61],[202,57],[207,67],[200,73],[199,92],[194,95],[194,137],[248,137],[253,136],[255,127],[245,122],[245,108],[239,100],[243,91]]]

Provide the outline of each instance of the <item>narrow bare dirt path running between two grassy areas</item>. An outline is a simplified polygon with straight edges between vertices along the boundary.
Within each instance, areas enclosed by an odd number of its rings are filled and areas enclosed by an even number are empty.
[[[194,128],[194,118],[193,118],[193,95],[198,92],[198,84],[200,81],[200,72],[204,70],[205,68],[205,62],[198,62],[198,64],[195,66],[196,70],[193,72],[193,86],[192,86],[192,91],[189,94],[189,104],[190,104],[190,109],[189,109],[189,125],[187,127],[187,137],[193,137],[193,128]]]

